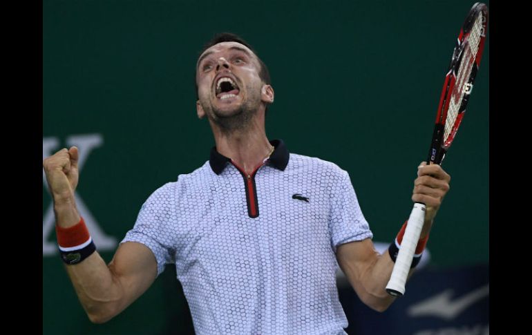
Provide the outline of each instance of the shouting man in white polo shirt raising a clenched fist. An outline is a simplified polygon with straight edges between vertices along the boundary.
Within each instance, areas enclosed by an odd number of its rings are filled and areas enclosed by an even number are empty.
[[[166,264],[175,264],[197,334],[345,334],[338,265],[366,305],[385,310],[395,243],[375,251],[348,173],[267,139],[274,89],[251,46],[216,36],[196,64],[196,86],[211,157],[146,200],[108,265],[75,206],[77,148],[44,160],[59,249],[88,317],[104,323],[122,312]],[[412,200],[427,214],[417,253],[449,180],[440,166],[418,167]]]

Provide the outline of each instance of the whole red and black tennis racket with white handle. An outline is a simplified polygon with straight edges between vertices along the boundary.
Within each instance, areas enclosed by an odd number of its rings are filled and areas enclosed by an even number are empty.
[[[453,50],[439,99],[433,139],[428,152],[428,164],[441,164],[455,139],[473,90],[487,28],[488,7],[484,3],[477,2],[469,11]],[[386,291],[392,296],[402,296],[405,292],[406,278],[425,220],[425,211],[425,204],[416,202],[408,218],[392,276],[386,285]]]

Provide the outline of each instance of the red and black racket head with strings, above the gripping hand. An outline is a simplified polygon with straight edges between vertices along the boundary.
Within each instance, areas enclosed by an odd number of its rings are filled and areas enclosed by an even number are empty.
[[[488,29],[488,7],[475,3],[462,25],[439,99],[428,164],[441,164],[471,96]]]

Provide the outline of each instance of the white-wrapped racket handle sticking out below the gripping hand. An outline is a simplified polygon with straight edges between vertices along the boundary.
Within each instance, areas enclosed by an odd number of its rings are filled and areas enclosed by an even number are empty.
[[[425,211],[425,204],[416,202],[412,213],[410,213],[410,218],[408,218],[408,224],[406,224],[401,248],[399,248],[399,253],[397,253],[392,276],[390,276],[390,281],[386,285],[386,291],[392,296],[402,296],[405,293],[406,278],[408,278],[419,235],[425,221]]]

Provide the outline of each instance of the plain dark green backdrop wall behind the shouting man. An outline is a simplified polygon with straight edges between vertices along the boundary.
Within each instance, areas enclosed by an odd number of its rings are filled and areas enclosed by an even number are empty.
[[[43,1],[43,134],[101,134],[79,196],[120,241],[146,198],[209,157],[194,68],[215,33],[256,48],[272,75],[267,135],[350,173],[375,241],[410,213],[444,75],[473,1]],[[489,3],[488,3],[489,5]],[[489,30],[489,29],[488,29]],[[488,35],[489,36],[489,35]],[[487,263],[489,38],[444,169],[452,176],[431,233],[431,265]],[[43,188],[43,213],[50,197]],[[48,240],[54,240],[51,235]],[[106,261],[113,253],[102,252]],[[122,314],[92,325],[58,256],[43,258],[44,334],[188,334],[168,267]]]

